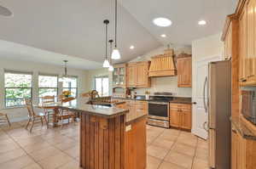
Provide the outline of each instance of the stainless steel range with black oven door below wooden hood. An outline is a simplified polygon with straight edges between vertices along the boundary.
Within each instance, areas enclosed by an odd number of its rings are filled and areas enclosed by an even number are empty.
[[[166,93],[165,93],[166,94]],[[148,124],[158,127],[170,127],[169,102],[173,99],[168,95],[150,96],[148,102]]]

